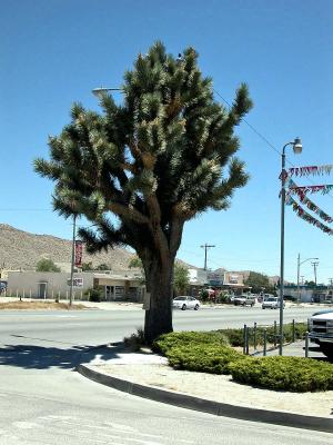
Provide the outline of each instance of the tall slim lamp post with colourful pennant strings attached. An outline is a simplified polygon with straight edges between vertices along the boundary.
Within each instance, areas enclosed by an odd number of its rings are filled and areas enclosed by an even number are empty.
[[[281,170],[281,249],[280,249],[280,345],[279,355],[283,353],[283,294],[284,294],[284,207],[285,207],[285,148],[293,146],[295,155],[302,152],[302,141],[295,138],[287,142],[282,149],[282,170]]]

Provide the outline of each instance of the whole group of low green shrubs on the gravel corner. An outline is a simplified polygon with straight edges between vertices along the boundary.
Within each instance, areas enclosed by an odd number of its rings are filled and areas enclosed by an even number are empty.
[[[157,339],[153,348],[175,369],[231,374],[234,382],[273,390],[333,390],[332,364],[303,357],[245,356],[232,347],[241,346],[236,334],[238,329],[171,333]]]

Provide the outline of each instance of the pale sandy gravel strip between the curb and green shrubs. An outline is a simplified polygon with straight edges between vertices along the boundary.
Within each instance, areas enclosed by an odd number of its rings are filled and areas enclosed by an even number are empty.
[[[162,387],[196,397],[270,411],[333,417],[333,390],[287,393],[238,384],[231,376],[174,370],[165,364],[93,364],[97,370],[134,383]]]

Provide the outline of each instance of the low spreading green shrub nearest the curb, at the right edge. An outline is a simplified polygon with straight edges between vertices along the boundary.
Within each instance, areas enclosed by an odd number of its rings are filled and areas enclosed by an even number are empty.
[[[228,367],[233,379],[294,393],[333,389],[333,365],[303,357],[246,357]]]

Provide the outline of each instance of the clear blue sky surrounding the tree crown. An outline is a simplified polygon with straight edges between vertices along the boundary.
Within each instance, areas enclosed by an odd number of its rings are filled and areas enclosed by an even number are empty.
[[[91,89],[117,87],[138,52],[155,40],[178,55],[191,44],[214,88],[232,101],[249,83],[249,122],[281,147],[300,136],[294,165],[333,164],[333,2],[331,0],[3,0],[0,16],[0,222],[70,238],[69,221],[51,210],[52,184],[32,170],[48,154],[48,135],[69,121],[72,101],[98,108]],[[209,267],[279,274],[281,158],[245,123],[239,156],[251,175],[226,212],[189,222],[179,257],[203,265],[200,245],[213,244]],[[333,184],[332,177],[311,178]],[[310,184],[304,179],[303,184]],[[333,215],[333,194],[312,196]],[[319,257],[319,281],[333,277],[333,237],[286,208],[285,277],[296,256]],[[304,279],[313,279],[310,261]]]

